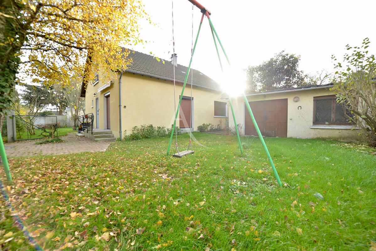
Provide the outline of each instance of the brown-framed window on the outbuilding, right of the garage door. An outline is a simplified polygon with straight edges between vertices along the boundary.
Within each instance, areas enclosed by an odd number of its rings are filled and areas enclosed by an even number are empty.
[[[354,124],[349,122],[351,113],[344,104],[338,104],[335,95],[313,97],[313,124]]]

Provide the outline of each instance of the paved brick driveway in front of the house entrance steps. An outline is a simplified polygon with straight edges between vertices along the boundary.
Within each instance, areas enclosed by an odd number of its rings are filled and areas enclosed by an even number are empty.
[[[75,133],[68,133],[60,137],[64,142],[50,144],[35,144],[38,140],[16,141],[5,143],[5,152],[8,158],[30,157],[35,155],[56,155],[65,153],[105,151],[111,141],[94,142],[85,137],[78,137]]]

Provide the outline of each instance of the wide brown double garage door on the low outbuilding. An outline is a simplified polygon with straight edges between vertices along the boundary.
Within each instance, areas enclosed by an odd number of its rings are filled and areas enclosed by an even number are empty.
[[[249,102],[253,116],[263,136],[287,137],[287,98]],[[246,135],[257,135],[246,108]]]

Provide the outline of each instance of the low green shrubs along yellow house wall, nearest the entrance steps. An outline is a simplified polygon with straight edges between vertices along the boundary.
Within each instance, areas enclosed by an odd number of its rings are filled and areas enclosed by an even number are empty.
[[[134,126],[132,128],[132,133],[130,135],[126,135],[127,130],[125,130],[124,134],[126,136],[124,136],[124,139],[125,140],[139,140],[139,139],[146,139],[146,138],[153,138],[153,137],[166,137],[171,134],[172,126],[171,126],[171,129],[170,128],[166,129],[166,127],[164,126],[154,127],[152,124],[150,124],[149,126],[146,126],[146,125],[141,125],[139,127]],[[180,129],[179,127],[176,127],[175,129],[178,135],[182,133],[182,129]]]

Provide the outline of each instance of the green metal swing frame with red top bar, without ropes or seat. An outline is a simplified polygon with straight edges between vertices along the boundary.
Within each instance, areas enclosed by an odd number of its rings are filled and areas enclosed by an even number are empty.
[[[172,142],[172,137],[174,135],[174,131],[175,131],[175,127],[176,127],[176,120],[177,120],[177,115],[179,114],[179,109],[180,109],[180,103],[182,101],[182,97],[183,97],[183,94],[184,94],[184,89],[185,89],[185,85],[187,83],[187,80],[188,80],[188,75],[190,73],[190,69],[191,69],[191,64],[192,64],[192,59],[193,59],[193,54],[194,54],[194,51],[196,49],[196,45],[197,45],[197,40],[199,39],[199,34],[200,34],[200,29],[201,29],[201,26],[202,26],[202,21],[204,19],[204,16],[206,16],[209,20],[209,24],[210,24],[210,29],[211,29],[211,32],[212,32],[212,35],[213,35],[213,40],[214,40],[214,44],[215,44],[215,49],[217,50],[217,55],[218,55],[218,60],[219,60],[219,63],[220,63],[220,66],[221,66],[221,70],[223,71],[223,67],[222,67],[222,62],[221,62],[221,58],[220,58],[220,55],[219,55],[219,51],[218,51],[218,47],[217,47],[217,42],[215,40],[215,38],[217,38],[218,40],[218,43],[220,44],[220,47],[223,51],[223,54],[224,56],[226,57],[226,60],[228,62],[228,64],[230,65],[230,60],[229,58],[227,57],[227,54],[226,54],[226,51],[224,50],[223,48],[223,45],[221,43],[221,40],[219,39],[219,36],[217,34],[217,32],[215,31],[214,29],[214,26],[213,26],[213,23],[210,19],[210,15],[211,15],[211,12],[208,11],[208,9],[206,9],[204,6],[200,5],[200,3],[198,3],[196,0],[188,0],[189,2],[191,2],[193,5],[197,6],[197,8],[200,9],[200,11],[202,12],[202,17],[201,17],[201,20],[200,20],[200,26],[199,26],[199,30],[197,31],[197,36],[196,36],[196,40],[194,42],[194,47],[193,47],[193,51],[191,53],[191,59],[190,59],[190,62],[189,62],[189,65],[188,65],[188,70],[186,71],[186,75],[185,75],[185,79],[184,79],[184,84],[183,84],[183,88],[182,88],[182,93],[180,95],[180,98],[179,98],[179,103],[177,104],[177,108],[176,108],[176,112],[175,112],[175,119],[174,119],[174,125],[172,127],[172,130],[171,130],[171,135],[170,135],[170,142],[168,143],[168,148],[167,148],[167,156],[169,155],[169,152],[170,152],[170,147],[171,147],[171,142]],[[215,36],[214,36],[215,35]],[[252,119],[252,122],[253,122],[253,125],[255,126],[256,128],[256,131],[257,131],[257,134],[259,136],[259,139],[261,141],[261,144],[262,146],[264,147],[264,151],[267,155],[267,158],[269,160],[269,163],[270,163],[270,166],[271,168],[273,169],[273,173],[274,173],[274,176],[276,177],[276,180],[279,184],[280,187],[282,187],[282,183],[279,179],[279,175],[277,173],[277,170],[276,170],[276,167],[274,166],[274,163],[273,163],[273,160],[271,159],[271,156],[270,156],[270,153],[269,153],[269,150],[265,144],[265,141],[264,141],[264,138],[262,138],[262,135],[261,135],[261,132],[260,132],[260,129],[257,125],[257,122],[255,120],[255,117],[253,116],[253,112],[252,112],[252,109],[251,107],[249,106],[249,103],[248,103],[248,100],[247,100],[247,97],[246,95],[244,94],[243,92],[243,98],[244,98],[244,102],[246,103],[246,107],[247,107],[247,110],[249,112],[249,115]],[[233,120],[234,120],[234,124],[235,124],[235,130],[236,130],[236,133],[237,133],[237,138],[238,138],[238,143],[239,143],[239,148],[240,148],[240,152],[243,153],[243,147],[241,146],[241,141],[240,141],[240,136],[239,136],[239,131],[238,131],[238,126],[237,126],[237,122],[236,122],[236,119],[235,119],[235,114],[234,114],[234,110],[233,110],[233,106],[232,106],[232,101],[231,101],[231,97],[230,95],[228,96],[228,99],[229,99],[229,103],[230,103],[230,107],[231,107],[231,112],[232,112],[232,117],[233,117]]]

